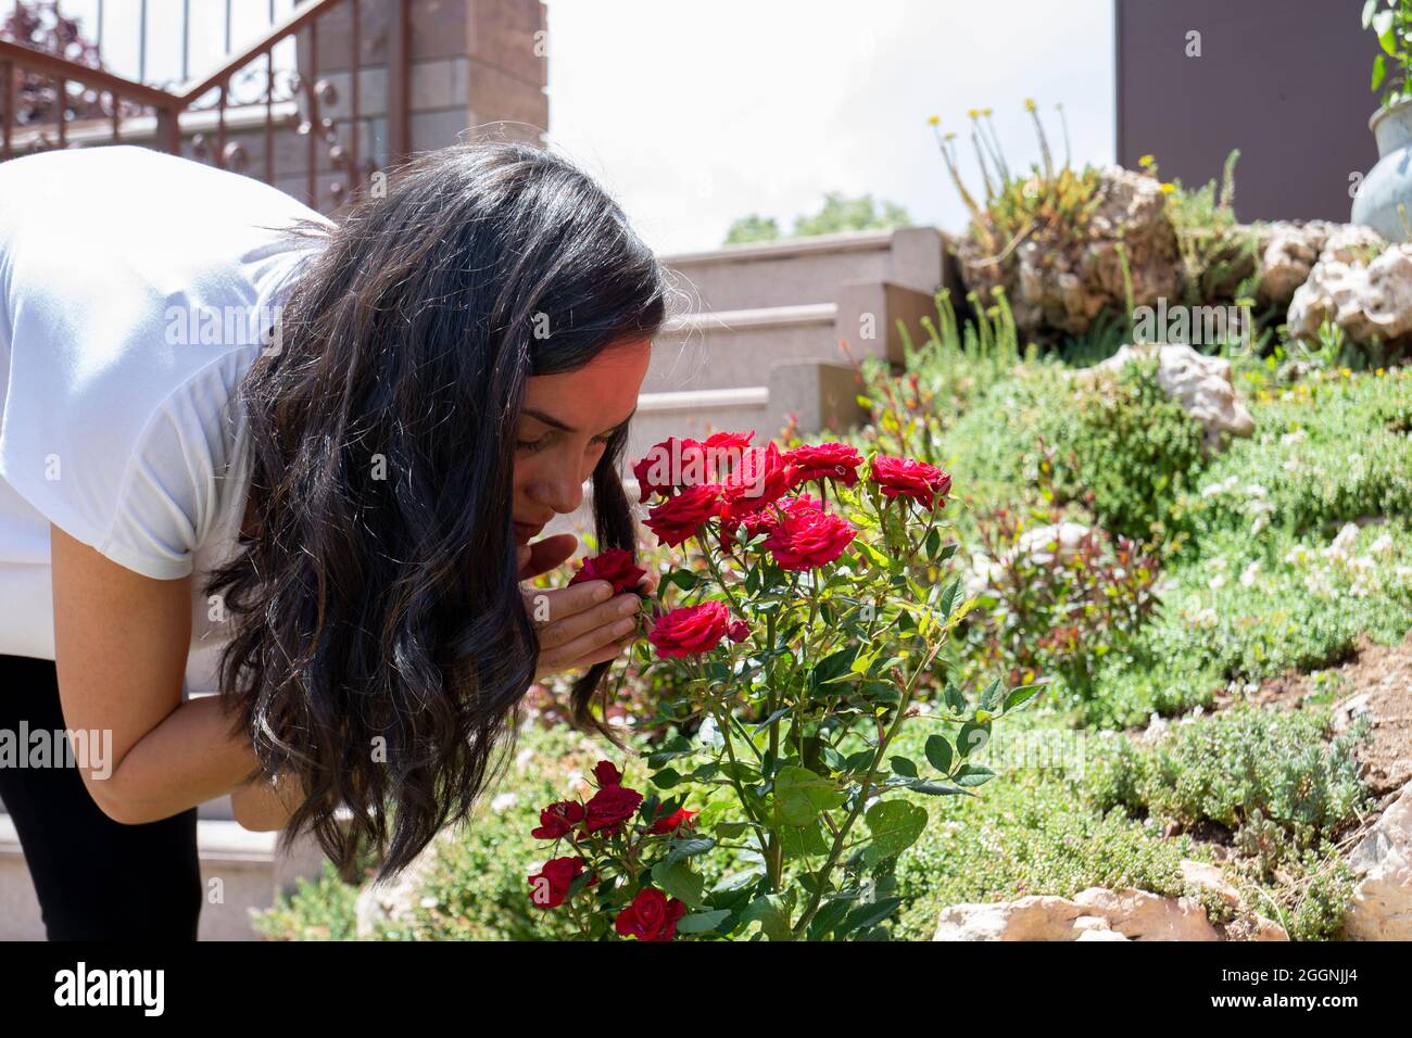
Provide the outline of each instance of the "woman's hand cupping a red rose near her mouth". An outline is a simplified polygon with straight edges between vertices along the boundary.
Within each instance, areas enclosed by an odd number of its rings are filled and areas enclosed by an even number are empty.
[[[520,547],[520,579],[545,573],[573,555],[573,534],[546,537]],[[638,585],[654,593],[658,575],[648,572]],[[549,674],[587,668],[613,660],[628,648],[638,624],[641,600],[631,592],[613,595],[607,580],[585,580],[572,587],[520,589],[525,612],[539,633],[539,665],[535,681]]]

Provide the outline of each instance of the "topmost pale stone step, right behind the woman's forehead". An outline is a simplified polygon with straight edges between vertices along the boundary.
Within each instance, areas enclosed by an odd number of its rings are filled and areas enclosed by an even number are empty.
[[[935,292],[945,281],[936,227],[819,234],[664,256],[693,311],[740,311],[833,302],[844,281],[891,281]]]

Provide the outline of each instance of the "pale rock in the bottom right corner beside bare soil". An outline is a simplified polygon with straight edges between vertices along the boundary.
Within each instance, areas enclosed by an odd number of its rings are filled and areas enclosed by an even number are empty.
[[[1412,784],[1348,856],[1360,877],[1344,917],[1354,941],[1412,941]]]

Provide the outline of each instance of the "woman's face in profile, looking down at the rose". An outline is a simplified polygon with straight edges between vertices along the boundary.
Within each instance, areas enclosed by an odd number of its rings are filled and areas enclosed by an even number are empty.
[[[637,410],[651,339],[602,350],[576,371],[532,376],[515,428],[515,541],[537,537],[556,513],[575,511],[609,438]]]

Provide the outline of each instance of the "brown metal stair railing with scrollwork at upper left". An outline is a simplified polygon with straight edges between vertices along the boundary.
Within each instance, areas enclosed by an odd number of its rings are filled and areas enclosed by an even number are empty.
[[[359,96],[363,1],[308,0],[273,24],[260,40],[230,55],[215,72],[169,88],[127,79],[34,47],[0,41],[0,161],[55,147],[147,143],[147,138],[160,151],[181,154],[184,131],[191,130],[193,158],[256,175],[249,169],[244,144],[254,133],[263,134],[261,179],[275,184],[275,130],[284,126],[306,140],[304,201],[318,208],[318,150],[322,144],[328,168],[343,178],[328,185],[330,208],[337,208],[359,193],[367,174],[376,168],[376,162],[363,158],[360,150],[364,120]],[[383,161],[393,164],[409,153],[411,27],[408,0],[377,1],[384,3],[388,17]],[[227,25],[229,11],[227,0]],[[321,114],[322,106],[337,103],[335,85],[319,76],[319,25],[332,11],[347,14],[349,35],[347,61],[339,66],[340,73],[347,69],[349,106],[337,120]],[[182,37],[185,62],[189,45],[185,25]],[[278,68],[275,62],[274,51],[287,40],[295,41],[299,55],[294,69]],[[52,86],[44,89],[41,85],[45,82]],[[71,85],[80,89],[73,92]],[[246,96],[251,88],[253,93]],[[52,103],[48,102],[51,92]],[[21,112],[25,100],[27,112]],[[152,114],[147,116],[147,110]],[[27,117],[18,119],[21,114]],[[203,123],[205,129],[196,131],[196,123]],[[347,129],[347,144],[339,137],[342,127]],[[213,133],[208,136],[210,130]]]

